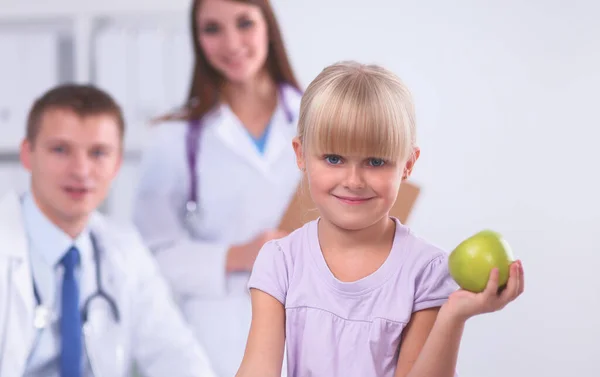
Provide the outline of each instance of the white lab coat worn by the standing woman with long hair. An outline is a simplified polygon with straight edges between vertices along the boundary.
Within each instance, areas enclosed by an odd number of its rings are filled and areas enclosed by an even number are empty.
[[[226,105],[205,116],[197,158],[200,221],[186,226],[187,125],[158,126],[145,151],[134,218],[221,377],[233,376],[251,321],[249,274],[225,273],[227,250],[276,228],[300,182],[292,139],[301,95],[284,87],[264,155]]]

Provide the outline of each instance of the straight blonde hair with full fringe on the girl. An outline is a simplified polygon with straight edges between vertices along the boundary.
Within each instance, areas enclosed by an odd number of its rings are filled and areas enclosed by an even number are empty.
[[[306,152],[406,162],[416,147],[412,95],[391,71],[354,61],[326,67],[300,105]]]

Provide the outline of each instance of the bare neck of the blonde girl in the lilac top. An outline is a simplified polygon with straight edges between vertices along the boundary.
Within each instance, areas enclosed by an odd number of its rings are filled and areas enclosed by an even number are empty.
[[[388,249],[396,232],[396,224],[388,216],[360,230],[343,229],[324,218],[318,226],[321,249],[328,252]]]

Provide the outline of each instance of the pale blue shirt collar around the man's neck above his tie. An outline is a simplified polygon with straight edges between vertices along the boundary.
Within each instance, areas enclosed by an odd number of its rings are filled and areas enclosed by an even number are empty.
[[[72,246],[79,249],[82,256],[91,253],[92,244],[89,229],[73,239],[54,225],[39,209],[31,192],[23,198],[23,217],[31,250],[41,254],[42,259],[54,267]]]

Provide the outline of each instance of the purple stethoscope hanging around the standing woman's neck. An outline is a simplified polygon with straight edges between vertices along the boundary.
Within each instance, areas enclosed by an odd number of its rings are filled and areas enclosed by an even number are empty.
[[[298,90],[298,92],[300,91]],[[287,122],[292,123],[294,120],[294,114],[288,102],[286,101],[285,92],[281,84],[279,85],[279,96],[281,98],[281,103]],[[196,174],[196,166],[198,163],[198,143],[200,141],[202,128],[201,119],[190,121],[185,139],[188,174],[190,176],[188,198],[185,203],[185,221],[187,224],[193,224],[194,220],[200,216],[201,212],[198,204],[198,176]]]

